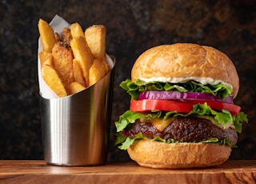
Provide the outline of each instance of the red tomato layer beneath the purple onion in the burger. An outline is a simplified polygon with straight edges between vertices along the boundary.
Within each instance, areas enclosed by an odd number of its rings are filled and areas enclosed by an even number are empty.
[[[150,110],[178,111],[180,113],[189,113],[193,110],[194,104],[203,104],[206,101],[190,100],[179,102],[174,100],[132,100],[130,102],[130,110],[137,112],[146,112]],[[229,110],[231,114],[238,114],[241,110],[240,106],[230,103],[207,101],[207,105],[214,110]]]

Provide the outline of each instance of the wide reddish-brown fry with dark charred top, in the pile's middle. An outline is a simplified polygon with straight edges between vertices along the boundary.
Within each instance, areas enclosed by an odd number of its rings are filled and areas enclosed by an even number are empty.
[[[74,82],[73,53],[70,46],[57,42],[53,48],[53,66],[64,85]]]

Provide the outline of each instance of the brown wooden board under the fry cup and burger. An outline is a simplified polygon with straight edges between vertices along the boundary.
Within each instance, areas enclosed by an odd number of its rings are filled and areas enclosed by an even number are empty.
[[[256,183],[256,160],[186,170],[151,169],[135,162],[50,166],[37,160],[0,160],[0,183]]]

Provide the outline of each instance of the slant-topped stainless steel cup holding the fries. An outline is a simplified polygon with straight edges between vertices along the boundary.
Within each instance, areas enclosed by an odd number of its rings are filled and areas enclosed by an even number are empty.
[[[44,159],[58,166],[106,164],[114,68],[86,90],[65,98],[41,96]]]

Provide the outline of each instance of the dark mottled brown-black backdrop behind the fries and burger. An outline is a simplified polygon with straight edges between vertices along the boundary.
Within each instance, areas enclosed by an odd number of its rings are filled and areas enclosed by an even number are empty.
[[[107,52],[117,60],[109,161],[126,161],[114,146],[114,122],[129,107],[118,85],[138,55],[152,46],[194,42],[214,46],[237,67],[235,102],[250,122],[230,159],[256,159],[256,1],[8,0],[0,2],[0,159],[42,159],[37,78],[38,19],[55,14],[83,28],[107,27]]]

